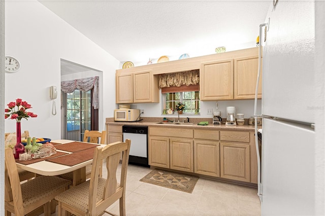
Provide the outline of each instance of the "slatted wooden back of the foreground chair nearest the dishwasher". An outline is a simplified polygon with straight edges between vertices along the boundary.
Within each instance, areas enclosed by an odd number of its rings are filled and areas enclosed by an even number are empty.
[[[110,199],[114,198],[114,195],[117,193],[117,179],[116,173],[120,160],[120,154],[123,154],[122,158],[122,173],[120,179],[120,188],[123,188],[123,194],[125,194],[125,183],[126,183],[126,171],[127,171],[127,162],[129,150],[131,147],[131,140],[126,139],[125,142],[114,142],[110,143],[104,148],[97,147],[94,150],[94,157],[92,161],[91,177],[90,177],[90,186],[89,186],[89,212],[90,215],[95,215],[96,207],[103,206],[111,202]],[[107,169],[107,179],[104,187],[104,193],[101,201],[96,202],[96,194],[99,181],[99,170],[100,165],[106,159],[106,169]],[[105,168],[105,167],[104,167]],[[121,189],[118,189],[120,192]],[[115,201],[115,200],[114,200]],[[113,202],[113,200],[112,200]]]

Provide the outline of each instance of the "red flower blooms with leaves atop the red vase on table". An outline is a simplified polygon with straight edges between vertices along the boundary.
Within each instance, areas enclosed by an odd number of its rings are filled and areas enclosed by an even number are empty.
[[[22,99],[17,98],[16,102],[10,102],[7,104],[9,109],[5,109],[5,119],[16,119],[17,122],[20,122],[21,119],[26,119],[29,117],[35,118],[37,117],[36,114],[27,112],[27,109],[32,108],[30,104],[26,101],[22,101]],[[17,109],[17,110],[16,110]]]

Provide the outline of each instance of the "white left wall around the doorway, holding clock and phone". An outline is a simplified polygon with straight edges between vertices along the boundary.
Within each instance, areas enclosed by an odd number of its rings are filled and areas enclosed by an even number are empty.
[[[5,104],[22,98],[32,105],[30,112],[38,115],[22,120],[21,130],[29,130],[31,136],[61,137],[60,109],[57,115],[51,114],[49,97],[49,86],[60,86],[61,58],[103,71],[99,129],[105,129],[104,118],[112,117],[115,109],[119,61],[37,1],[6,1],[5,12],[5,52],[21,63],[17,73],[6,73]],[[6,119],[5,132],[15,131],[15,124]]]

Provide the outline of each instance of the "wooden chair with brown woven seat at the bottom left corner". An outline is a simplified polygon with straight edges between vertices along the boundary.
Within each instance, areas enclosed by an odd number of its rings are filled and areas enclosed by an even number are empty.
[[[50,215],[50,201],[68,189],[71,181],[56,176],[39,176],[20,184],[16,161],[11,148],[5,149],[5,211],[6,216],[26,215],[44,206]]]

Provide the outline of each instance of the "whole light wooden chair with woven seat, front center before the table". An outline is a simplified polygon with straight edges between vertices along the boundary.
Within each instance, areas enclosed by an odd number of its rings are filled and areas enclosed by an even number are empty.
[[[101,215],[119,199],[120,215],[125,215],[125,185],[131,140],[113,142],[103,149],[94,150],[90,180],[77,185],[55,197],[58,201],[58,216],[67,211],[75,215]],[[121,178],[117,183],[117,167],[123,154]],[[106,159],[107,179],[99,176],[102,160]],[[110,212],[107,212],[111,214]]]

